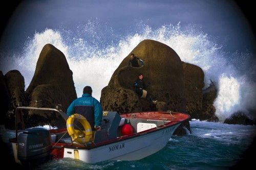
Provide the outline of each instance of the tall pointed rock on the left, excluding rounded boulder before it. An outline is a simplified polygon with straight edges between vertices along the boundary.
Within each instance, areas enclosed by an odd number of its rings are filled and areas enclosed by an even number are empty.
[[[46,44],[42,48],[36,63],[35,74],[26,93],[31,99],[38,85],[51,84],[63,92],[65,100],[70,104],[77,98],[72,75],[73,72],[69,68],[65,55],[55,46]],[[44,93],[44,91],[41,92]]]

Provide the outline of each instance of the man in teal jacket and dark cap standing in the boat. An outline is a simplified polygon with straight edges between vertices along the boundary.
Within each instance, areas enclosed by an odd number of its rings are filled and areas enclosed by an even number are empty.
[[[86,117],[92,129],[100,130],[103,114],[102,107],[99,101],[92,97],[92,92],[90,86],[84,87],[82,97],[74,100],[70,104],[67,115],[70,116],[74,113],[81,114]]]

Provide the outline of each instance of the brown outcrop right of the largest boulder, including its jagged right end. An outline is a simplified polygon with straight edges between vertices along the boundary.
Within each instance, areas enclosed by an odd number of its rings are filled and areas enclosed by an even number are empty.
[[[183,62],[184,91],[186,100],[186,112],[191,118],[218,122],[215,115],[214,101],[217,98],[217,88],[212,82],[208,88],[204,87],[204,72],[193,64]]]

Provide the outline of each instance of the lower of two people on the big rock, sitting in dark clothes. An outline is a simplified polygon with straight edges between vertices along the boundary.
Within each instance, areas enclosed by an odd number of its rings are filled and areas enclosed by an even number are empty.
[[[147,86],[149,86],[148,83]],[[141,98],[146,98],[147,100],[156,103],[157,101],[153,101],[151,94],[148,94],[146,90],[144,90],[147,86],[143,81],[143,74],[139,74],[139,79],[134,82],[135,92],[141,96]]]

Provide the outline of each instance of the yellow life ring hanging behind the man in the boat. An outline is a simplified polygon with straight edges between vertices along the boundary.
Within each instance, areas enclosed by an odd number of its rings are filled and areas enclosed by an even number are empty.
[[[75,119],[83,126],[84,129],[76,130],[74,128]],[[87,143],[92,138],[92,128],[85,117],[80,114],[72,114],[67,120],[67,130],[73,141],[78,143]]]

